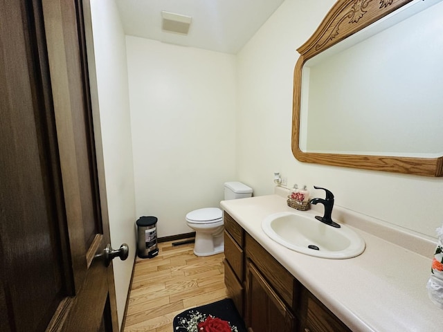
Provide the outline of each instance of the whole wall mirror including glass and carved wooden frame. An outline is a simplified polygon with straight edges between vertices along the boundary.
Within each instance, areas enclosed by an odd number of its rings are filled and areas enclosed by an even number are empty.
[[[440,1],[336,2],[298,48],[298,160],[443,176]]]

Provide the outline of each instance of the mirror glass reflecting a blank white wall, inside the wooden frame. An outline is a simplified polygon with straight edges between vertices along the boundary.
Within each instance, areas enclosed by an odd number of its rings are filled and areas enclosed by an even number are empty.
[[[429,2],[305,62],[301,151],[443,156],[443,2]]]

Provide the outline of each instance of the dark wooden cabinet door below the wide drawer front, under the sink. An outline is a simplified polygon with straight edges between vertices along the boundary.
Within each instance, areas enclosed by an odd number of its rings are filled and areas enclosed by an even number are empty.
[[[248,261],[246,271],[246,324],[248,324],[248,331],[296,331],[294,316],[251,261]]]

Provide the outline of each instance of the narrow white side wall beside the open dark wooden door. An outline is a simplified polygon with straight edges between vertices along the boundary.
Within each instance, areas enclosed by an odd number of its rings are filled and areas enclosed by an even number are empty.
[[[91,0],[91,17],[111,245],[114,249],[129,245],[128,259],[113,261],[121,326],[136,250],[125,34],[114,1]]]

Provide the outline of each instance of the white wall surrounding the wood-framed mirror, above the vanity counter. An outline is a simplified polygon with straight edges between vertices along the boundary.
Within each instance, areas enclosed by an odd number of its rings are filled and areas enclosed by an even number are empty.
[[[298,162],[291,153],[296,48],[314,33],[334,0],[287,0],[237,55],[237,174],[255,195],[273,192],[273,172],[288,184],[327,187],[336,205],[436,237],[443,222],[443,178]],[[426,129],[424,129],[426,132]],[[323,196],[311,190],[312,196]]]

